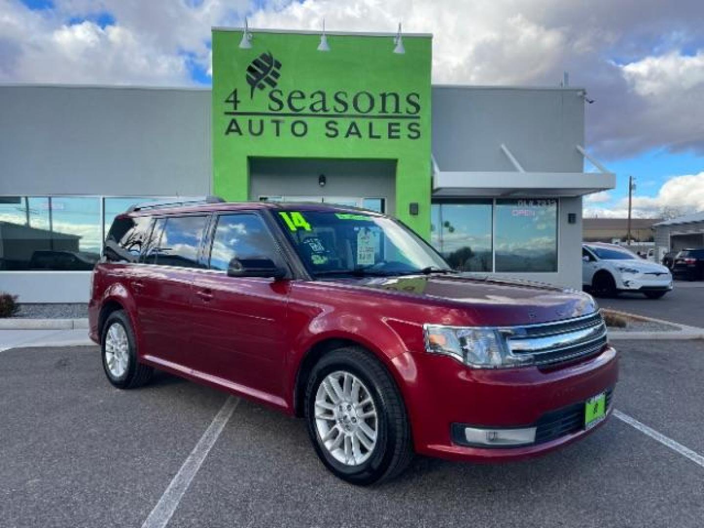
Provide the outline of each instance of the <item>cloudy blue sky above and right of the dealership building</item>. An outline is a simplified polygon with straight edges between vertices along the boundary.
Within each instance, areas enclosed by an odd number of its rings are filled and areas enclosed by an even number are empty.
[[[586,215],[704,209],[701,0],[0,0],[0,82],[209,85],[210,27],[432,32],[434,82],[552,85],[570,72],[587,148],[617,188]],[[691,177],[690,177],[691,176]]]

